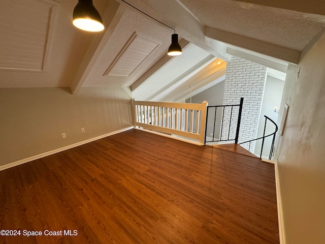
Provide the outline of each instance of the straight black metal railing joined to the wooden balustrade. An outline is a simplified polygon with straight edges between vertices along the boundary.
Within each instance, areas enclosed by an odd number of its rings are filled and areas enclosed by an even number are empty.
[[[241,120],[241,115],[242,115],[242,109],[243,109],[243,102],[244,98],[240,99],[240,104],[236,105],[218,105],[218,106],[208,106],[207,107],[207,117],[206,117],[206,127],[205,127],[205,137],[204,137],[204,144],[207,142],[219,142],[219,141],[234,141],[237,144],[238,143],[238,136],[239,136],[239,128],[240,128],[240,120]],[[232,119],[233,119],[233,112],[234,108],[238,107],[238,118],[237,118],[237,126],[236,126],[236,135],[235,138],[230,138],[231,134],[231,128],[232,128]],[[216,126],[216,119],[217,119],[217,108],[222,109],[222,117],[221,117],[221,126],[220,126],[220,133],[219,136],[220,138],[215,140],[215,126]],[[230,108],[230,119],[229,119],[229,128],[223,128],[223,122],[224,122],[224,117],[225,117],[225,108]],[[214,109],[214,123],[213,123],[213,133],[212,133],[212,141],[207,141],[207,131],[208,131],[208,118],[209,118],[209,110]],[[211,111],[210,111],[211,114]],[[222,138],[222,135],[224,134],[224,130],[228,130],[228,136],[226,135],[226,139]]]

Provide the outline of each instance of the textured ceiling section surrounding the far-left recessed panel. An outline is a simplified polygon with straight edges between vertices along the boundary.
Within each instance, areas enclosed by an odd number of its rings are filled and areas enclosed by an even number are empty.
[[[2,4],[8,2],[10,1],[1,1]],[[28,2],[31,1],[26,1],[26,4]],[[49,26],[53,28],[53,34],[49,37],[51,46],[48,50],[46,69],[43,72],[0,70],[0,87],[69,87],[92,35],[79,32],[72,26],[71,13],[75,1],[62,1],[61,4],[45,0],[32,2],[39,2],[40,5],[44,3],[58,5],[57,16],[53,25]],[[32,18],[35,13],[31,12],[29,15]],[[3,32],[1,27],[0,33]]]

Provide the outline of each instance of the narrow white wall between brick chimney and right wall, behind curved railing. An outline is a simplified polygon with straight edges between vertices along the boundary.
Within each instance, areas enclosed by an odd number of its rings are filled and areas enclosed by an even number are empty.
[[[265,117],[264,115],[271,118],[275,123],[278,120],[278,114],[274,112],[274,107],[280,107],[282,92],[283,92],[284,81],[274,78],[272,76],[267,76],[266,85],[264,90],[262,108],[261,108],[261,116],[259,116],[259,124],[257,129],[257,138],[263,136],[264,125],[265,125]],[[278,125],[280,128],[280,126]],[[268,121],[266,126],[265,135],[269,135],[273,133],[275,130],[275,126]],[[280,133],[278,131],[277,133]],[[272,144],[273,136],[269,136],[265,138],[264,146],[263,146],[263,154],[262,157],[269,158],[270,149]],[[262,147],[262,139],[257,140],[255,143],[254,154],[258,157],[261,155],[261,147]]]

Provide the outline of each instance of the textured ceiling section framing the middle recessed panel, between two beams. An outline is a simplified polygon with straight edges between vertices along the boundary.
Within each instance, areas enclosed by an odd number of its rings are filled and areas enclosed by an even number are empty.
[[[137,69],[128,77],[111,77],[103,76],[107,68],[114,62],[116,56],[119,55],[125,44],[135,34],[141,34],[148,38],[152,38],[162,43],[154,50]],[[167,49],[170,45],[170,38],[173,31],[161,26],[152,19],[127,8],[121,20],[114,29],[110,40],[105,45],[105,48],[96,59],[96,62],[89,73],[84,86],[130,86],[137,80],[152,64],[157,60],[167,55]]]

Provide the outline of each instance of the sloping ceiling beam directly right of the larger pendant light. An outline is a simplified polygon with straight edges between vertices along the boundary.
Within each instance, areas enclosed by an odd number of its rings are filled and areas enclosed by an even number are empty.
[[[102,15],[104,25],[106,26],[105,31],[102,33],[95,33],[92,40],[90,41],[88,49],[79,65],[79,69],[70,85],[72,94],[78,94],[80,88],[86,81],[92,67],[96,63],[96,60],[101,55],[108,40],[113,34],[114,29],[119,23],[125,10],[125,5],[120,5],[114,0],[109,1],[106,11]]]

